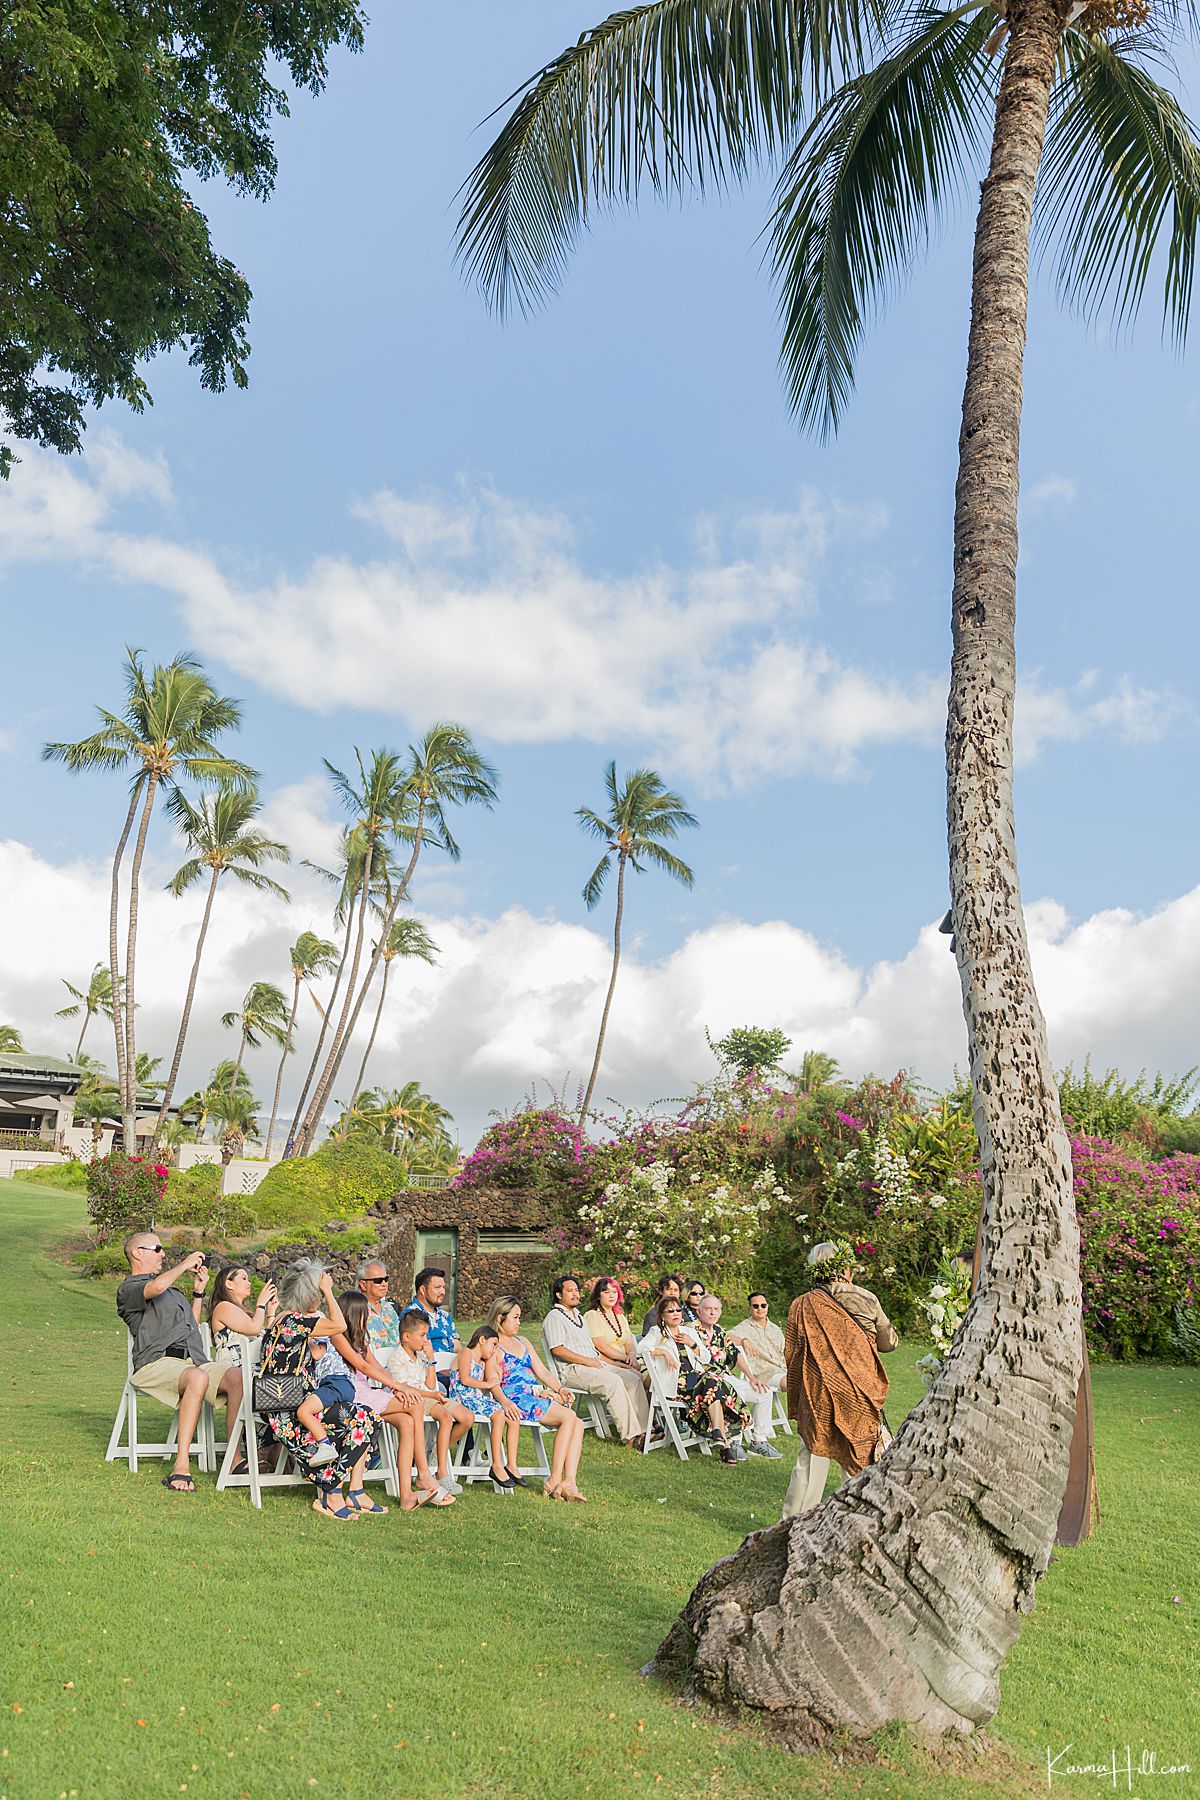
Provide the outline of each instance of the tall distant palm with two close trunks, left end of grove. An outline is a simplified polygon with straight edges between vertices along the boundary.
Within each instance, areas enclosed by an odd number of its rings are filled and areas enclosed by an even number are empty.
[[[113,1037],[117,1046],[117,1087],[126,1143],[133,1143],[137,1111],[137,918],[146,855],[146,835],[160,788],[173,794],[180,779],[209,783],[248,783],[254,770],[232,761],[216,747],[216,738],[241,725],[241,706],[216,693],[200,662],[178,655],[171,662],[142,664],[140,650],[126,646],[126,700],[122,713],[97,707],[101,729],[77,743],[45,743],[45,761],[65,763],[74,774],[90,769],[128,769],[130,806],[113,853],[108,900],[108,972],[113,992]],[[130,911],[126,925],[126,967],[119,967],[121,864],[139,814],[133,862],[130,868]]]

